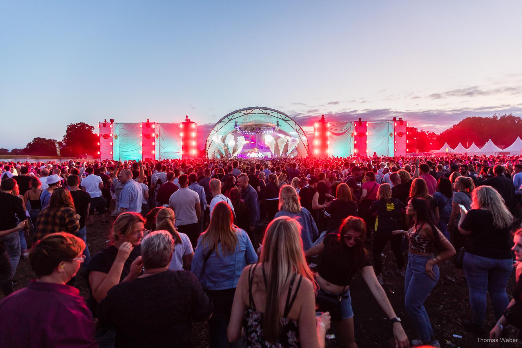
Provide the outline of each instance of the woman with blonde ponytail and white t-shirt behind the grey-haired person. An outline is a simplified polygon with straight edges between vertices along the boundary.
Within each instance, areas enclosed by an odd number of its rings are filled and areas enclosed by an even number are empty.
[[[160,207],[156,213],[156,228],[154,231],[168,231],[174,239],[174,253],[169,264],[169,269],[179,271],[183,269],[183,260],[191,265],[194,257],[194,249],[191,240],[185,233],[178,232],[174,226],[174,211],[170,208]]]

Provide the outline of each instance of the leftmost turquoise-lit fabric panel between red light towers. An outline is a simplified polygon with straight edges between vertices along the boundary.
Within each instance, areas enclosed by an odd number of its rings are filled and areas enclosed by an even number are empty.
[[[116,161],[141,160],[141,128],[139,123],[113,125],[113,159]]]

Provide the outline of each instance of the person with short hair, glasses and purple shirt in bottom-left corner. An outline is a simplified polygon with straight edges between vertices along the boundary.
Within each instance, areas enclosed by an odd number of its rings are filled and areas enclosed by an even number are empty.
[[[29,263],[37,279],[0,302],[0,347],[98,346],[84,298],[66,285],[84,261],[84,249],[84,241],[65,232],[32,247]]]

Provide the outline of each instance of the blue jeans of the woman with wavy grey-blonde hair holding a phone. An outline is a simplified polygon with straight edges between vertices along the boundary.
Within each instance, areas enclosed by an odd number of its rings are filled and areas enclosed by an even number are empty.
[[[487,292],[490,293],[495,320],[499,320],[509,304],[506,286],[513,272],[513,259],[490,259],[466,253],[462,266],[468,281],[471,321],[484,327],[488,306]]]

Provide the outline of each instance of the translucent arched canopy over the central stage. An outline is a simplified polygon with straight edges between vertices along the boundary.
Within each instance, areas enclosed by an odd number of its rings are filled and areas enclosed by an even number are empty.
[[[267,125],[276,126],[279,122],[279,129],[289,135],[299,139],[299,144],[295,148],[300,157],[306,157],[309,153],[308,139],[301,128],[290,116],[287,114],[270,109],[269,107],[245,107],[245,109],[232,111],[227,116],[221,118],[210,130],[205,143],[205,154],[218,152],[218,148],[212,141],[212,137],[216,134],[221,137],[230,133],[235,133],[235,123],[238,126],[248,125]]]

